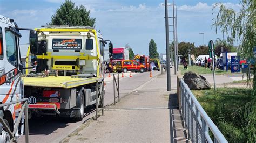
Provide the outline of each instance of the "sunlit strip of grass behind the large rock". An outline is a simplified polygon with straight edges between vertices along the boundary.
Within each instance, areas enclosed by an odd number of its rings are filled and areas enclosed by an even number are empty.
[[[188,66],[187,70],[183,70],[184,66],[179,66],[179,69],[181,71],[181,75],[184,75],[188,71],[192,71],[197,74],[212,74],[212,70],[210,68],[201,67],[201,66]],[[220,69],[215,70],[216,75],[223,75],[223,74],[231,74],[231,71],[223,71]]]

